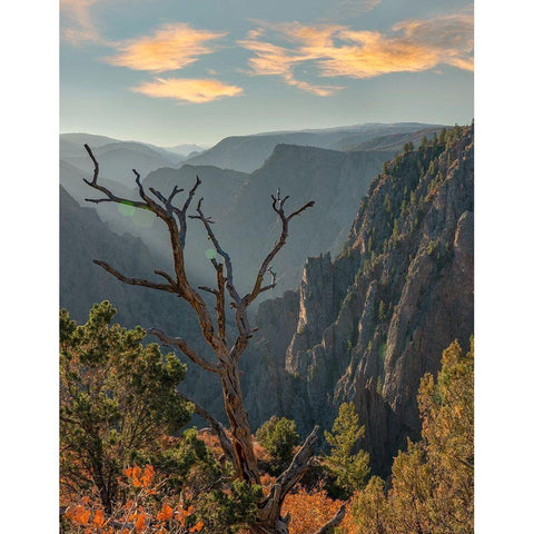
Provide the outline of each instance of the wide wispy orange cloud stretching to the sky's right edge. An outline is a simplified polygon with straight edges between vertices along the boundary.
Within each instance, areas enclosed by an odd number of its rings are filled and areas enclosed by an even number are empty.
[[[280,39],[284,46],[273,42]],[[318,76],[327,78],[373,78],[439,65],[473,70],[473,13],[405,20],[387,33],[343,24],[263,23],[239,44],[254,52],[249,73],[280,76],[290,86],[329,96],[340,87],[298,81],[295,68],[312,62]]]

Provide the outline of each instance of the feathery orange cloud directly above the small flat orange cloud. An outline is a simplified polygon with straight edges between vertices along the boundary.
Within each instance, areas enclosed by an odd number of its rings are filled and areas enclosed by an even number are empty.
[[[167,24],[151,37],[131,39],[117,46],[118,53],[106,60],[134,70],[165,72],[178,70],[197,61],[198,56],[211,53],[206,42],[226,33],[196,30],[186,23]]]

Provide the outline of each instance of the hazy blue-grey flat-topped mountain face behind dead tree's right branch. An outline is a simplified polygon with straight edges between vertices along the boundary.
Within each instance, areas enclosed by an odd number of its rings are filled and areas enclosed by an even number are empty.
[[[338,254],[356,208],[392,151],[340,152],[278,145],[235,196],[217,228],[235,266],[236,280],[249,286],[280,227],[270,195],[289,195],[286,210],[315,199],[313,212],[293,221],[288,244],[276,258],[277,290],[294,289],[309,256]]]

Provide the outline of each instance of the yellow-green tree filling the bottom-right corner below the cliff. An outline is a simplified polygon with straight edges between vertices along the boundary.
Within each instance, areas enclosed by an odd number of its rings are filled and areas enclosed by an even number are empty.
[[[408,442],[392,468],[392,487],[369,481],[353,498],[355,534],[474,532],[474,349],[457,342],[443,353],[435,379],[421,383],[422,439]],[[352,531],[353,532],[353,531]]]

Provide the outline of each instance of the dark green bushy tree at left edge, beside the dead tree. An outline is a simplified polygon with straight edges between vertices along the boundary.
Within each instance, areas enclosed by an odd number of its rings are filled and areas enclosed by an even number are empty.
[[[146,333],[111,325],[117,310],[95,305],[82,325],[60,313],[60,468],[71,490],[95,485],[109,513],[118,476],[136,454],[155,452],[190,417],[177,394],[186,366]]]

